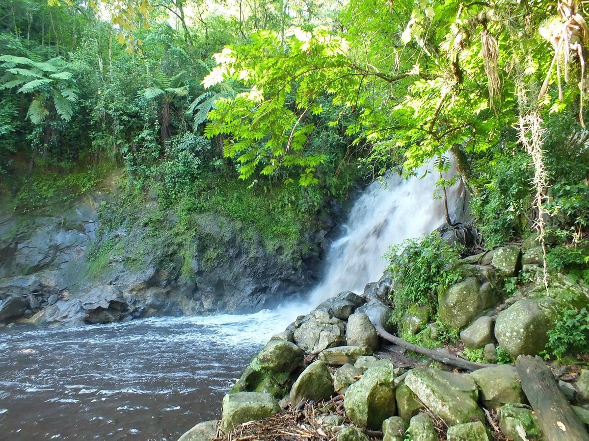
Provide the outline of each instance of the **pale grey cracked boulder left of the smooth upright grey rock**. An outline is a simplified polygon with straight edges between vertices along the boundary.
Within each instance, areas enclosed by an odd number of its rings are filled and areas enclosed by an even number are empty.
[[[294,329],[293,338],[299,348],[317,354],[323,349],[343,345],[343,334],[342,320],[330,318],[325,311],[315,310],[301,320]]]

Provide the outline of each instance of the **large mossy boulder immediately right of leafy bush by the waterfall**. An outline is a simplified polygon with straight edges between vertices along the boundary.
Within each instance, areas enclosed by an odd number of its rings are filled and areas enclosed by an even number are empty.
[[[458,330],[497,301],[490,282],[480,285],[477,278],[469,277],[439,293],[439,316],[446,326]]]

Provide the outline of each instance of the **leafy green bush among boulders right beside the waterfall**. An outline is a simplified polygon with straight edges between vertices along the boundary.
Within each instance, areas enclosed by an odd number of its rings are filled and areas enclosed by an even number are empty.
[[[392,301],[401,318],[411,305],[427,305],[438,310],[438,293],[462,278],[458,262],[460,250],[432,233],[422,240],[408,239],[392,246],[384,256],[394,280]]]

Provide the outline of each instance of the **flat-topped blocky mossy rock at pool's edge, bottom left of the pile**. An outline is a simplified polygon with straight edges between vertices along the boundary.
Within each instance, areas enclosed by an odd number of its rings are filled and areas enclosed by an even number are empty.
[[[233,426],[260,420],[280,412],[276,398],[263,392],[229,393],[223,398],[221,430],[228,433]]]

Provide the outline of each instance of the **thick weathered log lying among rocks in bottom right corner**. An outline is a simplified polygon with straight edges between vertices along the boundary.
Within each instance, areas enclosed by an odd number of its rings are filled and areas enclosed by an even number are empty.
[[[519,356],[515,368],[547,441],[589,441],[589,433],[539,357]]]

